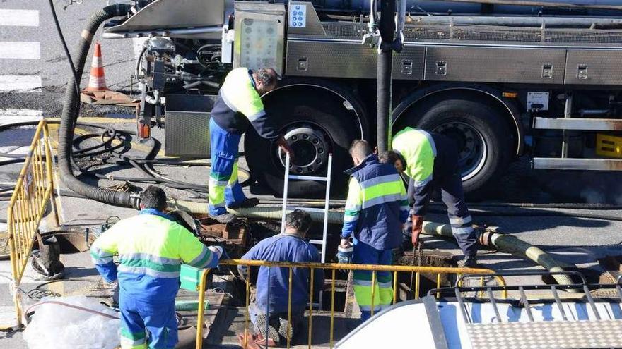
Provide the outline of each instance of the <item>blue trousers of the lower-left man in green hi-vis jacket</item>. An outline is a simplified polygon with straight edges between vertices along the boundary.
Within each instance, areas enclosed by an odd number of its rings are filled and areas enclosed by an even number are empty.
[[[122,349],[172,349],[177,344],[175,302],[153,303],[119,294]]]

